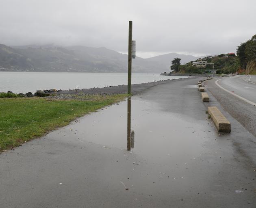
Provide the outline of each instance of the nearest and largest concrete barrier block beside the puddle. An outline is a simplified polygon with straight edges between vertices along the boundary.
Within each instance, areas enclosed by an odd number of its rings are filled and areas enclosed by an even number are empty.
[[[231,124],[216,106],[208,107],[208,113],[219,132],[231,132]]]

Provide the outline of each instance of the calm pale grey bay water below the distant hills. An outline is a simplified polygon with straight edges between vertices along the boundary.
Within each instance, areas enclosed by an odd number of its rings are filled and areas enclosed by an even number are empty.
[[[154,80],[179,79],[179,76],[155,76],[134,73],[132,84]],[[0,72],[0,92],[27,93],[41,89],[74,89],[127,85],[127,73],[72,73],[72,72]]]

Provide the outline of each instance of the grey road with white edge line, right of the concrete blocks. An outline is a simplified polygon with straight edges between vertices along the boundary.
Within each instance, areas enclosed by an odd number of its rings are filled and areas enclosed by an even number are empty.
[[[217,80],[213,79],[206,82],[208,90],[213,93],[225,111],[228,111],[256,137],[256,106],[254,106],[256,103],[256,84],[248,82],[249,76],[246,75]],[[252,82],[254,80],[256,80],[256,76],[252,76],[250,79]],[[222,88],[216,85],[216,81]]]

